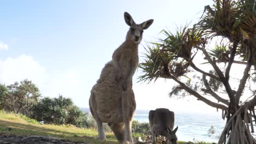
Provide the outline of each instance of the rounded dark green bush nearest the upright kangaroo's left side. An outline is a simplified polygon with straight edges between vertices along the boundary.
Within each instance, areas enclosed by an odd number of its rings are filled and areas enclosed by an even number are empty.
[[[33,108],[33,118],[37,121],[53,124],[82,125],[83,112],[73,104],[70,98],[59,95],[58,98],[45,97]]]

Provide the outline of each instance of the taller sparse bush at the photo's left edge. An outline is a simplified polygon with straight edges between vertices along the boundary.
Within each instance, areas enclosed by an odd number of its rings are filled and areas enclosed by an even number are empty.
[[[32,115],[32,107],[41,97],[38,87],[29,80],[15,82],[12,85],[0,84],[0,109],[8,112]]]

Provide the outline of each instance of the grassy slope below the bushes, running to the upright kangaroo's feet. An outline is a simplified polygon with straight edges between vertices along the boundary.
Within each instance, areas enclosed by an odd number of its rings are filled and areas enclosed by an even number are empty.
[[[9,128],[12,128],[10,131]],[[97,132],[92,129],[82,129],[73,125],[52,125],[39,124],[34,119],[27,118],[24,115],[5,113],[0,111],[0,132],[15,135],[42,135],[54,136],[62,139],[72,140],[76,142],[89,143],[118,143],[113,133],[106,133],[108,141],[100,141],[96,139]]]

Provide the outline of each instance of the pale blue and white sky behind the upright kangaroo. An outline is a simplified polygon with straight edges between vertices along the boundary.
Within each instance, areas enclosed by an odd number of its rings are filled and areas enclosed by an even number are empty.
[[[0,83],[30,79],[43,96],[57,97],[60,93],[76,105],[88,107],[91,87],[113,51],[125,40],[129,27],[124,11],[137,23],[154,19],[139,46],[142,61],[144,41],[156,40],[162,29],[173,31],[181,23],[197,22],[204,6],[212,4],[211,0],[1,1]],[[150,85],[136,83],[138,109],[170,107],[173,103],[176,105],[172,107],[205,107],[201,102],[171,100],[167,95],[171,85],[163,80]]]

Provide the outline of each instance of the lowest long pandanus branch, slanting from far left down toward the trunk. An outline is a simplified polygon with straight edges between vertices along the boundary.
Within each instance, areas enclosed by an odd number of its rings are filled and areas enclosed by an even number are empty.
[[[179,85],[182,86],[182,88],[187,91],[188,93],[194,95],[197,100],[201,100],[204,103],[206,103],[207,105],[210,105],[212,107],[216,107],[217,109],[222,109],[222,110],[228,110],[228,107],[226,107],[225,105],[222,104],[218,104],[218,103],[214,103],[211,100],[206,99],[205,97],[202,97],[202,95],[200,95],[199,93],[197,93],[196,91],[194,91],[193,89],[189,88],[188,86],[185,85],[185,83],[179,81],[176,77],[174,77],[173,75],[168,75],[167,77],[163,77],[166,79],[173,79],[174,81],[176,81],[177,83],[179,83]]]

